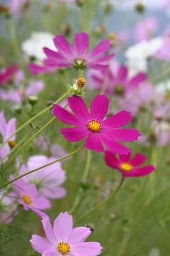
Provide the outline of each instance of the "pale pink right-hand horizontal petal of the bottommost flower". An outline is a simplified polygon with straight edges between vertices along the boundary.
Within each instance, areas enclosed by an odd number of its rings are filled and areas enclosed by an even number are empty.
[[[102,246],[97,242],[77,243],[72,246],[72,253],[75,256],[96,256],[102,252]]]

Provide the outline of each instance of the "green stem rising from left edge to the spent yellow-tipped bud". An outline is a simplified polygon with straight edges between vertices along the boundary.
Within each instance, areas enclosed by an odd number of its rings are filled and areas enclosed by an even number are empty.
[[[61,100],[65,99],[65,97],[68,95],[69,92],[66,92],[65,94],[63,94],[61,97],[59,97],[58,100],[56,100],[53,104],[58,104],[59,102],[61,102]],[[32,118],[30,118],[29,120],[27,120],[27,122],[25,122],[23,125],[21,125],[15,132],[13,132],[13,134],[6,140],[4,141],[1,146],[0,149],[4,147],[4,145],[6,143],[8,143],[8,141],[10,141],[10,139],[17,134],[19,131],[21,131],[24,127],[26,127],[26,125],[30,124],[31,122],[33,122],[33,120],[35,120],[36,118],[38,118],[39,116],[43,115],[44,113],[46,113],[49,109],[52,108],[53,104],[51,104],[49,107],[43,109],[42,111],[40,111],[39,113],[37,113],[35,116],[33,116]]]

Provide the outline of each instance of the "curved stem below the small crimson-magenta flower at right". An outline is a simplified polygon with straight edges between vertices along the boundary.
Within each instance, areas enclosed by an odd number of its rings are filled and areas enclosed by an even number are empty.
[[[77,221],[75,221],[75,223],[79,222],[79,221],[82,221],[84,218],[86,218],[89,214],[97,211],[100,207],[104,206],[105,204],[107,204],[107,202],[109,202],[117,193],[118,191],[120,190],[121,188],[121,185],[123,184],[123,180],[124,180],[124,177],[121,178],[121,181],[120,181],[120,184],[118,186],[118,188],[116,188],[115,191],[112,191],[111,195],[106,198],[102,203],[98,204],[97,206],[93,207],[91,210],[89,210],[88,212],[86,212],[84,215],[82,215]]]

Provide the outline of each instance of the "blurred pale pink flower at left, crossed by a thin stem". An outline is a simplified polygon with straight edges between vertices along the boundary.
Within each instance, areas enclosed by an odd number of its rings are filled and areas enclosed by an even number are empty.
[[[22,175],[40,165],[48,164],[54,161],[56,158],[47,157],[43,155],[29,157],[27,164],[23,164],[20,167],[19,174]],[[40,195],[50,199],[62,198],[66,195],[66,189],[61,187],[61,184],[65,182],[65,171],[61,167],[61,163],[55,163],[41,170],[31,173],[23,177],[27,184],[34,183]]]

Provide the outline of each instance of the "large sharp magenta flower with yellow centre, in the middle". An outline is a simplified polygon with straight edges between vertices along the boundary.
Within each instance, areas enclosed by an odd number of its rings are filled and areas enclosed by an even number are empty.
[[[120,129],[132,120],[127,111],[121,111],[107,119],[109,99],[105,95],[97,95],[91,102],[90,112],[84,100],[73,95],[68,98],[68,106],[75,115],[54,104],[53,113],[62,122],[74,125],[73,128],[60,129],[66,140],[75,142],[86,138],[85,146],[97,152],[104,152],[104,145],[118,154],[128,154],[130,149],[121,145],[119,140],[129,142],[137,140],[140,135],[135,129]]]

